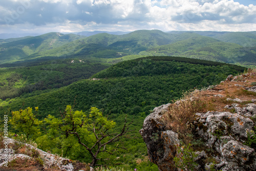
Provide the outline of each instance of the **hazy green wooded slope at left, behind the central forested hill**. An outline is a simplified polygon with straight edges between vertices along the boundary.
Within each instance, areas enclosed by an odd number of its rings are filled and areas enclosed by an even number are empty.
[[[6,100],[37,90],[47,90],[67,86],[81,79],[88,79],[96,72],[109,66],[74,59],[55,60],[37,66],[8,68],[0,70],[0,99]],[[27,64],[29,65],[29,64]]]

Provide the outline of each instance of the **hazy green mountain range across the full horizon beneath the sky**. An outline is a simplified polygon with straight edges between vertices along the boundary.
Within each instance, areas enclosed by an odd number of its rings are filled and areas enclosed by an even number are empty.
[[[82,33],[91,35],[88,37],[48,33],[24,39],[0,40],[0,64],[41,57],[119,58],[140,54],[256,65],[256,32],[103,32]]]

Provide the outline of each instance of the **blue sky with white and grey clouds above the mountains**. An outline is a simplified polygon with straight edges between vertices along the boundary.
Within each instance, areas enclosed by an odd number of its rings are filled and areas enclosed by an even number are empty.
[[[6,0],[1,33],[256,31],[256,0]]]

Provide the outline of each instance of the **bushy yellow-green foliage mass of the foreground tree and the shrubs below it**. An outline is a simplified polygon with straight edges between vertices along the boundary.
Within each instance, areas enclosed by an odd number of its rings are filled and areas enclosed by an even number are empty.
[[[108,159],[107,162],[113,160],[113,155],[104,155],[104,153],[115,152],[118,144],[115,147],[110,145],[129,132],[127,131],[129,124],[124,123],[121,133],[114,133],[113,128],[116,123],[108,120],[96,107],[92,107],[90,113],[86,114],[75,111],[68,105],[59,118],[48,115],[44,120],[47,134],[36,139],[41,149],[51,149],[57,153],[60,153],[57,149],[61,149],[63,156],[72,159],[78,156],[80,159],[91,158],[90,163],[93,167],[98,160],[102,163],[105,163],[104,159]],[[88,154],[91,157],[88,157]]]

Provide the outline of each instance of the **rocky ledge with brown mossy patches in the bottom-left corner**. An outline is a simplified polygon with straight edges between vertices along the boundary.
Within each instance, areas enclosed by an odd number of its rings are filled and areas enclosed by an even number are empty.
[[[34,168],[32,165],[31,167],[26,165],[23,170],[65,170],[65,171],[73,171],[74,166],[72,164],[72,160],[67,158],[62,158],[57,155],[53,155],[51,153],[44,152],[40,149],[37,149],[35,146],[22,143],[16,141],[14,139],[8,138],[5,139],[5,142],[8,143],[8,147],[11,148],[4,148],[0,149],[0,170],[13,170],[7,166],[7,163],[11,163],[12,161],[28,161],[31,160],[31,163],[37,162],[39,166]],[[17,151],[13,149],[19,149]],[[23,154],[24,152],[25,154]],[[22,169],[23,165],[19,164],[19,168]]]

